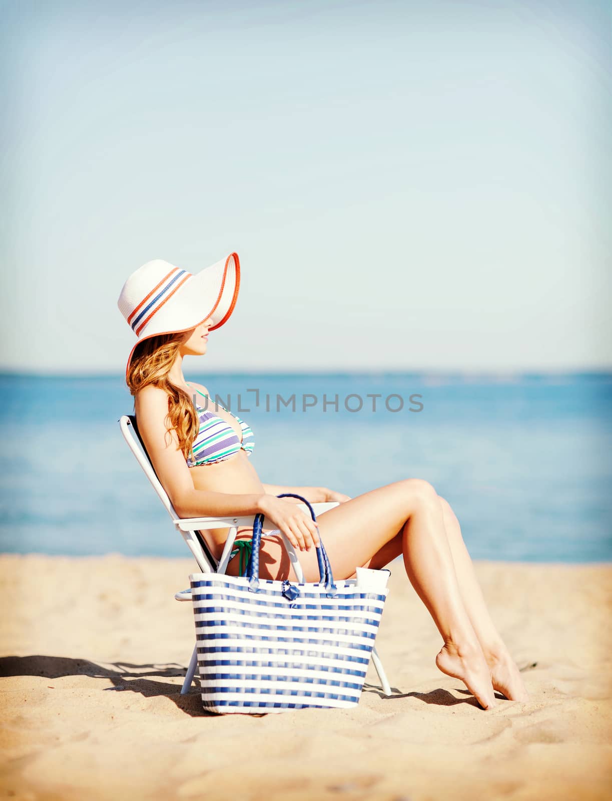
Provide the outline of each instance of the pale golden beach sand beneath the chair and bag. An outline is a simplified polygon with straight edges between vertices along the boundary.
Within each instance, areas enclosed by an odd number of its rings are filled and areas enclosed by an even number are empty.
[[[481,710],[393,562],[350,710],[260,717],[181,696],[191,560],[0,557],[2,778],[11,799],[604,799],[612,795],[612,566],[480,562],[527,703]]]

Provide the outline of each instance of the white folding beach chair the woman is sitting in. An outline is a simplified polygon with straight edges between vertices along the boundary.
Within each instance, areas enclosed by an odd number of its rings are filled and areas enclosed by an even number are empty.
[[[159,497],[159,500],[162,501],[163,508],[166,509],[167,513],[170,515],[175,529],[179,531],[183,537],[187,548],[191,551],[191,555],[198,564],[200,572],[225,573],[225,570],[227,570],[227,563],[230,560],[230,554],[232,553],[232,547],[234,545],[234,541],[236,540],[238,527],[252,527],[255,515],[249,515],[247,517],[179,517],[170,502],[170,498],[167,496],[166,490],[163,489],[163,486],[161,485],[161,482],[159,481],[159,478],[153,469],[153,465],[151,465],[151,460],[148,457],[147,449],[144,447],[143,441],[140,438],[138,426],[136,425],[136,418],[133,415],[123,415],[123,417],[119,419],[119,425],[121,427],[123,438],[127,442],[127,445],[129,445],[131,452],[136,457],[136,461],[138,461],[139,465],[142,467],[144,474],[151,482],[153,489],[155,489],[155,492],[157,493],[157,497]],[[306,506],[304,506],[304,504],[298,505],[304,510],[305,513],[308,513],[308,509]],[[312,504],[312,508],[315,510],[316,515],[320,515],[321,513],[326,512],[328,509],[332,509],[334,506],[337,506],[337,503]],[[206,531],[207,529],[224,528],[229,529],[229,533],[227,534],[227,540],[223,546],[221,558],[219,561],[217,561],[200,532]],[[264,528],[276,528],[276,526],[274,523],[272,523],[272,521],[269,521],[267,517],[264,517]],[[300,567],[299,564],[296,565],[298,558],[296,556],[296,552],[294,551],[287,537],[285,537],[285,542],[287,544],[289,559],[296,570],[296,575],[298,578],[300,578],[300,573],[298,572]],[[175,598],[177,601],[191,601],[191,590],[180,590],[175,594]],[[380,662],[380,658],[376,653],[376,648],[372,649],[372,663],[376,668],[378,678],[380,678],[380,684],[383,692],[385,695],[390,695],[391,687],[387,681],[387,676],[385,674],[385,669],[382,666],[382,662]],[[193,683],[197,665],[198,650],[196,642],[193,653],[191,654],[191,659],[189,660],[189,666],[187,667],[187,675],[185,676],[185,681],[183,682],[183,688],[181,689],[182,695],[188,693],[191,689],[191,684]]]

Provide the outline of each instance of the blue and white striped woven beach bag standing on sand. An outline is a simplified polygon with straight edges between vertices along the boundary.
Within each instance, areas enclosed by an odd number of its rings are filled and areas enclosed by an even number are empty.
[[[308,501],[294,493],[279,495],[286,496],[300,498],[316,521]],[[374,578],[368,587],[359,586],[359,579],[334,582],[321,542],[320,581],[307,583],[284,537],[301,580],[261,579],[263,519],[258,514],[254,521],[245,576],[190,576],[203,706],[223,714],[356,706],[390,571],[364,570]]]

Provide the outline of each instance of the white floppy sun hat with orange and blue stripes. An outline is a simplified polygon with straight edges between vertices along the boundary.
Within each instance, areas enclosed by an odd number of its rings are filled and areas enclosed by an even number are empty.
[[[117,305],[139,342],[159,334],[189,331],[212,318],[219,328],[234,311],[240,287],[240,261],[230,253],[195,276],[163,259],[147,261],[123,284]],[[131,349],[127,359],[130,367]]]

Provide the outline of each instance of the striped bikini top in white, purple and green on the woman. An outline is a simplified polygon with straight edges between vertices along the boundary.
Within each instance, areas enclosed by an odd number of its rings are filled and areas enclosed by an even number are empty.
[[[187,386],[191,386],[191,384],[187,383]],[[200,392],[199,389],[196,389],[195,392],[198,392],[199,395],[208,400],[208,396]],[[221,405],[219,404],[219,406]],[[240,420],[240,417],[236,417],[229,409],[221,406],[223,411],[231,414],[240,423],[242,440],[239,440],[236,431],[221,417],[217,417],[214,413],[203,409],[202,406],[197,404],[195,408],[199,414],[199,432],[193,443],[193,456],[195,458],[189,457],[187,459],[187,467],[215,465],[219,461],[232,458],[235,453],[240,453],[241,449],[246,451],[247,456],[251,456],[255,447],[255,439],[252,430]]]

